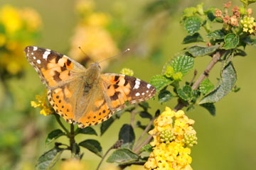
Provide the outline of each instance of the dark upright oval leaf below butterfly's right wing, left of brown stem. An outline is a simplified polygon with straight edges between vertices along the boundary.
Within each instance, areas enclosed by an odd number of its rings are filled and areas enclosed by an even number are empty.
[[[132,149],[135,140],[134,130],[131,125],[124,124],[119,131],[118,140],[124,140],[121,147],[127,147]]]

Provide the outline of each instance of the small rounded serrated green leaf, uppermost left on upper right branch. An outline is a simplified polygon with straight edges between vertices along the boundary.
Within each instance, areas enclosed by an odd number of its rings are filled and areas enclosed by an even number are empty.
[[[188,17],[186,18],[184,27],[189,35],[193,35],[194,33],[198,32],[198,30],[200,30],[201,20],[197,16]]]

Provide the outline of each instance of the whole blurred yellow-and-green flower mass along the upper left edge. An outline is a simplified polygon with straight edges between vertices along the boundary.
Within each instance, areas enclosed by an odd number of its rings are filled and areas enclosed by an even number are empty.
[[[27,65],[23,48],[36,39],[41,17],[33,8],[0,8],[0,67],[17,74]]]

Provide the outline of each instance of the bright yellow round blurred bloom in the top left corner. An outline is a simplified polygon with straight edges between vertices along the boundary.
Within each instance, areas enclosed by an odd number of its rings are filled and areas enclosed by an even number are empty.
[[[5,5],[0,10],[0,20],[3,23],[6,33],[14,33],[22,26],[18,10],[12,6]]]

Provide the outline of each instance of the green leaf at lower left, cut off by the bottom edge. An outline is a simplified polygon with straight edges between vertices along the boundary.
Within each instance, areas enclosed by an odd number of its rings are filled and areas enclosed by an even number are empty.
[[[36,170],[45,170],[51,169],[55,163],[60,159],[60,155],[62,154],[64,149],[60,149],[58,147],[54,147],[50,149],[48,152],[44,153],[39,157],[38,162],[36,164]]]

